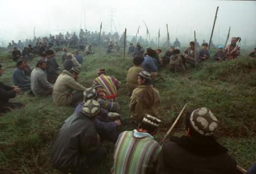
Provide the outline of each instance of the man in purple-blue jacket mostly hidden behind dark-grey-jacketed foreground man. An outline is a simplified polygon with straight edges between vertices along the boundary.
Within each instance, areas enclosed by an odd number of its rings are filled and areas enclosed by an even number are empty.
[[[94,87],[87,88],[84,92],[84,102],[76,106],[74,113],[80,112],[84,106],[84,103],[91,99],[96,100],[98,96],[99,95]],[[95,126],[97,133],[100,135],[100,139],[107,139],[113,143],[117,142],[117,138],[119,136],[117,127],[121,125],[121,119],[120,114],[108,112],[108,110],[100,107],[100,113],[95,119]]]

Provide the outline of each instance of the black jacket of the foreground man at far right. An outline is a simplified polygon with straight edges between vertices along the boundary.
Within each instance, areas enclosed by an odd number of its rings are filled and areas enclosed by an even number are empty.
[[[189,136],[171,137],[163,143],[166,173],[233,174],[236,161],[215,140],[200,141]]]

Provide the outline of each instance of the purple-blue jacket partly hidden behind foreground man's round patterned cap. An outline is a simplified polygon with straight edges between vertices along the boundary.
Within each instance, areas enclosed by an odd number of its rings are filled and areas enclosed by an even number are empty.
[[[74,113],[78,113],[82,111],[82,107],[84,106],[84,102],[78,104]],[[109,122],[103,122],[102,120],[108,120]],[[114,131],[117,130],[117,124],[115,122],[111,122],[108,118],[108,111],[105,109],[100,109],[100,115],[97,116],[95,122],[96,130],[102,131]]]

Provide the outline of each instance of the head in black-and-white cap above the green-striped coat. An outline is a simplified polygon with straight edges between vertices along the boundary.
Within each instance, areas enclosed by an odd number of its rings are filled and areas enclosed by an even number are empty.
[[[138,125],[138,130],[143,130],[147,133],[150,133],[152,136],[156,134],[157,128],[160,125],[160,119],[145,114],[144,118],[142,119],[141,123]]]

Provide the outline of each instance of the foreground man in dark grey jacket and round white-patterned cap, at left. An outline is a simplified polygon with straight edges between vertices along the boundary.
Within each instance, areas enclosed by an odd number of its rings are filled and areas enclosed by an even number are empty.
[[[82,110],[64,121],[50,148],[53,166],[63,173],[87,173],[87,169],[106,157],[106,148],[94,124],[100,104],[88,100]]]

